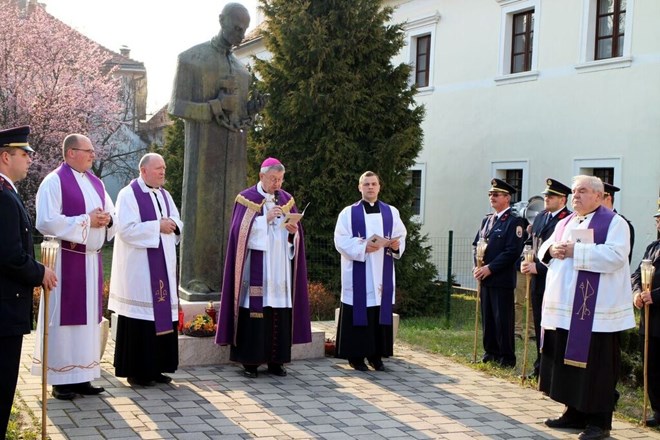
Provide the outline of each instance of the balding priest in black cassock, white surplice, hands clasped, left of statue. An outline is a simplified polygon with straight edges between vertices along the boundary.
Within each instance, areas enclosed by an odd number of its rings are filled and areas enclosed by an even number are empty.
[[[163,188],[165,161],[148,153],[117,196],[108,309],[117,313],[115,375],[131,385],[170,383],[179,365],[176,245],[183,222]]]

